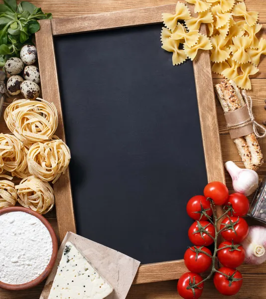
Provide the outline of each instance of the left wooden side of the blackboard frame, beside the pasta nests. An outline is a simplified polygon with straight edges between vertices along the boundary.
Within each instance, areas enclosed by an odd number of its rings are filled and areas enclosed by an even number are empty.
[[[56,131],[56,135],[58,135],[62,140],[65,140],[50,20],[41,21],[41,29],[36,33],[35,37],[40,77],[42,78],[42,96],[46,101],[50,101],[55,104],[58,112],[58,129]],[[46,80],[44,80],[44,78]],[[59,236],[62,241],[68,231],[76,232],[70,175],[68,170],[64,175],[60,176],[53,187]]]

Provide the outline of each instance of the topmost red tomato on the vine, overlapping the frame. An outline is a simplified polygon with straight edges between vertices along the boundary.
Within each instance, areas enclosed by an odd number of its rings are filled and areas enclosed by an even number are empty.
[[[210,197],[216,205],[223,205],[228,195],[227,186],[221,182],[211,182],[204,188],[204,196]]]

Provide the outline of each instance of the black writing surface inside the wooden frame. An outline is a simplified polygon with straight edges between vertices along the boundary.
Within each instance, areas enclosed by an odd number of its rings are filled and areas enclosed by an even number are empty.
[[[77,232],[142,264],[183,258],[207,183],[192,62],[160,30],[54,37]]]

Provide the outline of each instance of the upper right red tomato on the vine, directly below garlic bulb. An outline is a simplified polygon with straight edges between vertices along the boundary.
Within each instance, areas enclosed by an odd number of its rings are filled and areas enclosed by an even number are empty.
[[[234,212],[230,212],[231,216],[245,216],[248,214],[250,202],[248,198],[242,193],[233,193],[228,197],[226,205],[231,205]]]

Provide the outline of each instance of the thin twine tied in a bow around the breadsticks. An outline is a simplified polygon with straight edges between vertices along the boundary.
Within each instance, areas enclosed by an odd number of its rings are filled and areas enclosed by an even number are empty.
[[[249,115],[250,115],[250,119],[243,121],[239,124],[236,125],[228,125],[227,128],[232,130],[232,129],[239,129],[239,128],[243,128],[246,127],[248,125],[253,126],[253,131],[254,134],[256,135],[256,137],[258,138],[264,138],[266,136],[266,128],[264,128],[262,125],[260,125],[259,123],[257,123],[255,121],[254,115],[253,115],[253,111],[252,111],[252,98],[250,96],[247,95],[246,91],[242,91],[242,95],[243,98],[245,100],[245,103],[247,104],[247,108],[249,111]],[[263,133],[259,133],[259,129],[261,129],[263,131]]]

